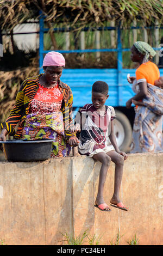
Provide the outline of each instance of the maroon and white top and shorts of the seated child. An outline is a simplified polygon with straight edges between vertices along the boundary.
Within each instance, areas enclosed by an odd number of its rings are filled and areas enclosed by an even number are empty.
[[[79,153],[92,157],[100,152],[107,153],[114,150],[111,143],[106,144],[110,121],[115,118],[114,108],[105,106],[105,112],[101,114],[93,104],[86,104],[80,112],[85,121],[79,135]]]

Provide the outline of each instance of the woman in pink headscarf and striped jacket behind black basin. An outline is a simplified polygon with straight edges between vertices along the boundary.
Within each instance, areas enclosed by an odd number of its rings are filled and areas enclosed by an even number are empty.
[[[78,145],[75,133],[70,131],[73,125],[72,91],[60,81],[64,66],[65,58],[61,53],[46,54],[44,74],[27,78],[21,84],[14,107],[1,124],[0,141],[5,141],[8,134],[29,141],[54,139],[51,157],[68,156],[70,145]]]

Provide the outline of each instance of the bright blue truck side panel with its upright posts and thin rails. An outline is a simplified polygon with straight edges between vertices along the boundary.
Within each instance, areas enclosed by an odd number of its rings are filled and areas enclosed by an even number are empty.
[[[138,28],[138,27],[133,27]],[[163,28],[163,27],[162,27]],[[85,28],[87,29],[87,28]],[[101,30],[101,28],[98,28]],[[115,27],[105,27],[105,30],[115,29]],[[40,19],[40,73],[43,72],[43,54],[49,52],[43,49],[43,33],[48,29],[43,28],[43,16]],[[54,29],[54,31],[58,31]],[[63,30],[64,31],[64,30]],[[67,28],[65,28],[67,31]],[[64,31],[64,32],[65,32]],[[71,31],[71,28],[70,30]],[[83,29],[83,31],[86,31]],[[163,50],[163,48],[154,48],[155,50]],[[115,49],[87,49],[87,50],[59,50],[60,53],[84,53],[84,52],[117,52],[117,69],[64,69],[61,81],[71,87],[73,93],[73,107],[78,109],[86,103],[91,103],[91,87],[96,81],[105,81],[109,84],[109,98],[106,101],[108,105],[118,107],[126,106],[126,101],[134,96],[131,85],[127,81],[127,74],[135,76],[135,69],[123,69],[122,52],[130,51],[130,48],[122,48],[121,29],[117,29],[117,48]],[[163,69],[160,69],[163,76]]]

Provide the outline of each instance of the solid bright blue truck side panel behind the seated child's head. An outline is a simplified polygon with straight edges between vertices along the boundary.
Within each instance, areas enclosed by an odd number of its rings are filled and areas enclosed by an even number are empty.
[[[92,84],[98,80],[109,85],[109,98],[106,101],[111,106],[126,106],[126,101],[134,95],[131,85],[127,82],[127,74],[135,75],[135,69],[123,69],[121,72],[121,90],[118,86],[117,69],[64,69],[61,81],[67,83],[73,92],[73,106],[79,107],[91,103]],[[121,98],[121,105],[119,103]]]

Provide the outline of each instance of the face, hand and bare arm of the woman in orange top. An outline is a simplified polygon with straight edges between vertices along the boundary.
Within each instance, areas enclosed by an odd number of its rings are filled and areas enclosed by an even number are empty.
[[[131,47],[131,60],[133,62],[138,62],[141,65],[143,63],[143,58],[144,58],[144,55],[142,53],[140,53],[139,51],[137,51],[136,47],[133,45]],[[129,78],[131,80],[131,82],[129,82],[129,80],[128,80],[129,83],[133,83],[134,80],[136,79],[134,76],[131,76]],[[127,108],[130,108],[132,103],[135,103],[139,100],[142,100],[144,97],[146,97],[146,95],[147,95],[147,82],[139,83],[139,89],[140,89],[140,92],[137,93],[134,97],[131,97],[131,99],[129,99],[126,102],[126,107]]]

